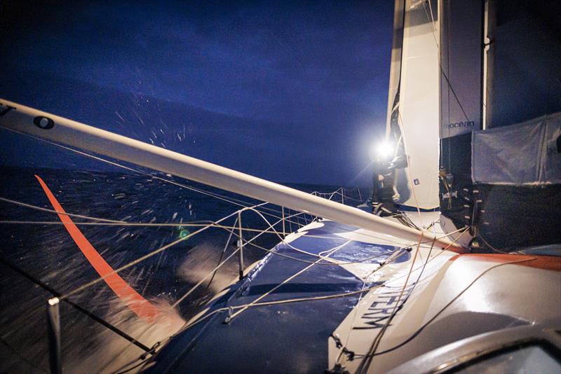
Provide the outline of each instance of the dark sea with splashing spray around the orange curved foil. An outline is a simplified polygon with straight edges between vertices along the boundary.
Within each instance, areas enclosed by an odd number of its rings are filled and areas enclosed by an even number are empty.
[[[227,228],[209,228],[187,236],[209,221],[236,212],[241,205],[259,203],[164,174],[31,167],[1,167],[0,173],[0,198],[13,200],[0,201],[0,373],[49,372],[46,308],[53,294],[39,283],[62,295],[71,293],[69,300],[148,347],[165,340],[238,275],[238,257],[233,256],[214,276],[173,307],[236,249],[236,238],[229,238],[228,228],[234,227],[236,215],[222,223]],[[187,237],[120,272],[135,291],[156,305],[161,312],[158,318],[146,321],[137,317],[105,282],[87,286],[99,276],[58,216],[37,209],[52,209],[52,206],[35,175],[45,181],[67,213],[119,221],[100,224],[100,221],[72,217],[81,233],[114,269]],[[320,193],[338,188],[290,186]],[[346,194],[349,195],[346,204],[358,202],[356,190]],[[337,199],[340,200],[335,196]],[[266,205],[260,212],[272,224],[280,219],[279,209]],[[287,216],[290,213],[295,212],[285,212]],[[285,230],[297,230],[310,220],[311,216],[297,216],[286,223]],[[142,226],[147,223],[151,226]],[[255,212],[244,212],[244,240],[251,240],[259,234],[258,230],[268,228],[269,223]],[[274,227],[282,230],[281,223]],[[270,249],[279,239],[278,234],[268,233],[257,237],[254,243]],[[245,247],[244,266],[265,254],[258,247]],[[66,303],[60,303],[60,316],[63,370],[69,373],[112,372],[143,353]]]

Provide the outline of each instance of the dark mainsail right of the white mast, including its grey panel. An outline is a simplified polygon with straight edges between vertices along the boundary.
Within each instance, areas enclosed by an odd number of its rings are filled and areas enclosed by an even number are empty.
[[[561,240],[559,11],[440,1],[442,222],[487,249]]]

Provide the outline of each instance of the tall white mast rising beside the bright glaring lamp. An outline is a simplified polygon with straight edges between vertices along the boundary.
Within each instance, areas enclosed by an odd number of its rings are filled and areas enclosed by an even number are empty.
[[[394,27],[387,128],[396,153],[407,155],[407,167],[396,170],[395,200],[434,209],[439,205],[438,6],[437,1],[396,1],[398,20],[401,9],[403,41]]]

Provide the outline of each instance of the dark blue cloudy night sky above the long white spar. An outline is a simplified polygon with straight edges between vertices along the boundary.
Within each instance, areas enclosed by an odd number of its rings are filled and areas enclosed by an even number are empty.
[[[356,183],[384,127],[393,1],[0,7],[5,99],[276,181]]]

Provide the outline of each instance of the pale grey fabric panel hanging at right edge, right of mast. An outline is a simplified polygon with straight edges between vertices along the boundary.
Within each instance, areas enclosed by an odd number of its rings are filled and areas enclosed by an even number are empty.
[[[473,132],[474,183],[561,183],[561,112]]]

